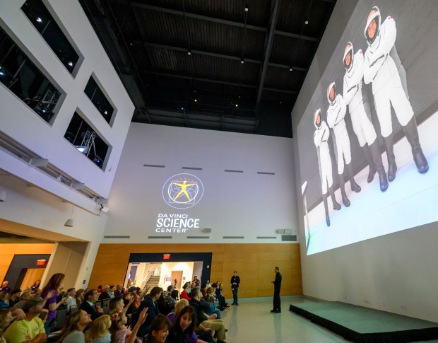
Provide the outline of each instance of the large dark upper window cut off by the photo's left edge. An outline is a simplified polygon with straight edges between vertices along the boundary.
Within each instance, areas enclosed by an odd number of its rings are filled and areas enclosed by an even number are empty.
[[[0,82],[46,122],[52,123],[61,92],[0,28]]]

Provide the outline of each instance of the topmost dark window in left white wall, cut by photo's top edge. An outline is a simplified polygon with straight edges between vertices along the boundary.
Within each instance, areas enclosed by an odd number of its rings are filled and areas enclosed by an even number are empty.
[[[21,6],[21,10],[61,60],[62,64],[72,74],[78,63],[79,56],[71,46],[66,35],[59,28],[57,22],[54,21],[46,6],[41,0],[26,0],[24,5]]]

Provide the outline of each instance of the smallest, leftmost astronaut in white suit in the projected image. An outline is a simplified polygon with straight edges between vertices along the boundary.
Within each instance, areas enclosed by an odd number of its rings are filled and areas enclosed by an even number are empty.
[[[330,226],[329,205],[327,203],[327,192],[330,192],[333,209],[341,209],[341,205],[336,202],[335,192],[333,191],[333,171],[331,169],[331,156],[329,150],[330,130],[326,122],[321,120],[321,109],[314,112],[315,132],[313,135],[316,153],[318,154],[319,176],[321,177],[322,200],[326,211],[326,223]]]

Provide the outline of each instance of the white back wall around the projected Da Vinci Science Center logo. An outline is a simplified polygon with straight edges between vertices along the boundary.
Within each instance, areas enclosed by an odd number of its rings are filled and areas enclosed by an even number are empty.
[[[201,202],[185,211],[172,209],[162,199],[165,181],[178,173],[196,175],[204,187]],[[297,225],[293,175],[292,139],[132,123],[109,197],[105,235],[131,236],[123,243],[281,243],[276,229]],[[200,219],[200,228],[185,234],[156,233],[160,213],[188,214]],[[201,228],[212,232],[203,234]],[[172,239],[148,239],[160,235]],[[189,235],[210,238],[188,240]]]

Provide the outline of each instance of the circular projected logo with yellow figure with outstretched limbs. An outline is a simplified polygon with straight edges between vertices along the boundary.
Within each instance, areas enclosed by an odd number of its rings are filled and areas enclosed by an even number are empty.
[[[201,201],[203,185],[191,174],[177,174],[162,187],[162,199],[174,209],[189,209]]]

